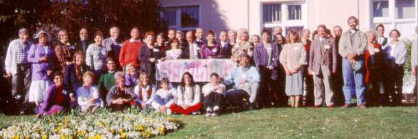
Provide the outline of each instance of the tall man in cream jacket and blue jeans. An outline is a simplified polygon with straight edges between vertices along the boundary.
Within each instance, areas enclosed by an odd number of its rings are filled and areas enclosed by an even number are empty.
[[[343,57],[343,92],[345,97],[345,105],[348,108],[352,100],[352,80],[356,84],[356,97],[358,108],[366,108],[365,106],[365,84],[364,84],[364,52],[367,48],[367,35],[357,29],[358,19],[350,16],[347,20],[349,30],[341,35],[339,42],[339,54]]]

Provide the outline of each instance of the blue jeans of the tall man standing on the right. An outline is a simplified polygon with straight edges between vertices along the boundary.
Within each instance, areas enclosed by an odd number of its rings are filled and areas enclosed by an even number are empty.
[[[362,56],[359,56],[362,57]],[[357,105],[364,104],[365,102],[365,83],[364,83],[364,73],[365,67],[363,65],[363,59],[357,59],[357,62],[362,65],[361,69],[358,71],[354,71],[352,69],[352,63],[348,59],[343,58],[343,91],[345,97],[345,104],[351,104],[352,100],[352,82],[356,84],[356,97],[357,97]],[[354,80],[353,80],[354,78]]]

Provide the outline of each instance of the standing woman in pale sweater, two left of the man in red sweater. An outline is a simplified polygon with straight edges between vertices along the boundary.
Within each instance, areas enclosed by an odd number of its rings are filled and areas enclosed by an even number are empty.
[[[90,44],[86,50],[86,64],[95,71],[96,76],[103,74],[106,69],[106,59],[108,58],[108,49],[103,46],[103,33],[95,33],[95,43]]]

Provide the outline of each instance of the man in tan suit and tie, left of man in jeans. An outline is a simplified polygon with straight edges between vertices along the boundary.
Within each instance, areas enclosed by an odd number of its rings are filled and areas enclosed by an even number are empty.
[[[325,104],[328,108],[333,108],[334,102],[332,95],[334,92],[331,89],[331,74],[336,73],[336,48],[334,39],[325,35],[325,25],[318,26],[319,38],[312,42],[309,50],[309,67],[308,72],[313,75],[315,83],[315,108],[318,108],[323,103],[323,96],[325,96]],[[323,91],[325,90],[325,95]]]

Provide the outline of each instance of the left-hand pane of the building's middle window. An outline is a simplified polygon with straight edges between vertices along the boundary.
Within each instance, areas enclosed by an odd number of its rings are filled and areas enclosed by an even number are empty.
[[[262,20],[263,22],[280,22],[282,12],[280,4],[265,4],[262,5]]]

